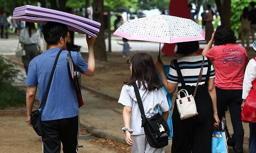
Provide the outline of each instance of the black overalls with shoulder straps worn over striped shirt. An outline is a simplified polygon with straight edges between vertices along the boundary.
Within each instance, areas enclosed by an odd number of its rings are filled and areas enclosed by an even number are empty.
[[[212,64],[210,59],[208,59],[208,61],[205,83],[203,85],[198,85],[196,96],[194,97],[198,115],[181,120],[175,101],[174,111],[172,113],[174,131],[172,138],[172,153],[191,153],[191,151],[192,153],[212,152],[213,109],[212,99],[207,88]],[[189,95],[193,95],[195,86],[185,84],[177,59],[174,60],[174,65],[179,76],[179,82],[182,84],[178,87],[178,91],[186,89]],[[182,95],[182,97],[183,96],[184,95]]]

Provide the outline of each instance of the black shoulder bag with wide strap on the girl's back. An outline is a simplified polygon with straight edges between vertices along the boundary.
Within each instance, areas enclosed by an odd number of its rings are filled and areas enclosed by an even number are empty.
[[[136,82],[133,83],[133,87],[140,108],[140,114],[142,119],[141,127],[144,128],[144,132],[147,141],[149,142],[149,146],[153,148],[163,148],[164,146],[167,146],[168,136],[170,134],[170,129],[167,123],[159,112],[153,115],[151,118],[146,117]]]

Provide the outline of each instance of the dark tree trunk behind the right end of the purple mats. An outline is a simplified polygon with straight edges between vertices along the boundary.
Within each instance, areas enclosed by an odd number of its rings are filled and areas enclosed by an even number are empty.
[[[95,58],[101,61],[107,61],[107,53],[104,38],[104,21],[103,21],[103,0],[93,0],[93,20],[102,23],[100,33],[94,43]]]

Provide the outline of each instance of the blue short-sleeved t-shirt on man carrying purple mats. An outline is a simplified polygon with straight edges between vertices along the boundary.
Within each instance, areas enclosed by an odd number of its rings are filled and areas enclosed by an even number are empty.
[[[36,56],[29,63],[26,85],[39,85],[40,103],[46,92],[51,70],[59,50],[60,48],[46,50],[46,52]],[[68,76],[67,54],[68,51],[63,50],[58,59],[46,106],[44,106],[41,113],[42,121],[70,118],[79,114],[74,85]],[[71,52],[71,56],[76,67],[81,73],[84,73],[88,68],[88,64],[77,52]]]

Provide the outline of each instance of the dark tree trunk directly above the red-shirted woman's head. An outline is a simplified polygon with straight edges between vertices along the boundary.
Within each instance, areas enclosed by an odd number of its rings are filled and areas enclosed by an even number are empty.
[[[215,0],[215,2],[219,16],[221,17],[221,25],[230,27],[231,0],[224,0],[223,3],[221,3],[221,0]]]

